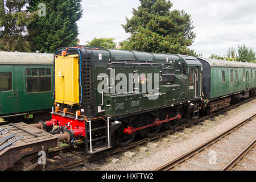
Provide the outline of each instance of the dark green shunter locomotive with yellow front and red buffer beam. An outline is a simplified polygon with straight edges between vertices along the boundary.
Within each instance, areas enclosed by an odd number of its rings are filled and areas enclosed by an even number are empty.
[[[152,136],[159,125],[173,128],[181,117],[199,117],[202,74],[202,64],[191,56],[60,49],[55,54],[56,111],[44,126],[69,123],[69,134],[85,137],[86,145],[103,139],[108,146],[124,146],[136,131]]]

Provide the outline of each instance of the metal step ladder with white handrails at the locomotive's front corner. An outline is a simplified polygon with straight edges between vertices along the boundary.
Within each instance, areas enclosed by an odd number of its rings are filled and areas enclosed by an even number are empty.
[[[87,121],[89,123],[89,130],[86,130],[86,150],[89,154],[96,154],[97,152],[101,152],[104,150],[108,150],[111,147],[111,138],[110,138],[110,118],[108,118],[108,121],[105,122],[105,126],[97,127],[92,129],[92,121]],[[98,137],[98,138],[92,138],[92,132],[97,130],[105,129],[106,135]],[[93,146],[93,142],[97,140],[104,140],[106,139],[105,144],[102,144],[100,146]]]

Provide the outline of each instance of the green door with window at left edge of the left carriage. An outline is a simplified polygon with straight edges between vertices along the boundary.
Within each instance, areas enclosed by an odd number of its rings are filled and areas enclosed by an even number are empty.
[[[13,89],[13,65],[0,66],[0,115],[13,113],[16,93]]]

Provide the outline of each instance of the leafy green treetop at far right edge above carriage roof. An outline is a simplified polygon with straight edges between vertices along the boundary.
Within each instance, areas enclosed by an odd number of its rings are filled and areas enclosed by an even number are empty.
[[[245,44],[242,46],[238,45],[237,48],[237,61],[242,62],[255,62],[255,52],[253,51],[253,48],[246,47]]]

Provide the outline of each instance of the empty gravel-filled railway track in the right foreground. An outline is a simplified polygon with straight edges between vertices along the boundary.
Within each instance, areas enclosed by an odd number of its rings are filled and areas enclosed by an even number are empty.
[[[251,125],[251,120],[253,120],[254,125]],[[199,169],[199,170],[230,170],[232,169],[234,166],[236,166],[236,164],[238,164],[238,162],[240,162],[240,160],[251,150],[251,148],[253,148],[255,146],[255,136],[256,136],[256,127],[255,126],[256,123],[256,114],[253,115],[252,117],[246,119],[245,121],[239,123],[238,125],[232,127],[231,129],[225,131],[224,133],[221,133],[220,135],[218,135],[217,137],[214,137],[213,139],[210,139],[208,142],[201,144],[201,146],[196,147],[195,149],[193,149],[192,151],[187,152],[187,154],[181,155],[179,158],[172,160],[171,162],[165,164],[164,166],[161,166],[157,169],[155,169],[155,171],[171,171],[171,170],[189,170],[192,167],[192,169]],[[244,130],[245,129],[250,129],[253,128],[254,130]],[[242,133],[242,134],[241,134]],[[251,134],[251,135],[249,135]],[[224,155],[226,156],[226,158],[229,158],[230,156],[233,156],[232,153],[232,149],[234,151],[236,151],[238,148],[241,147],[241,143],[244,144],[245,142],[249,142],[250,139],[248,140],[244,140],[244,139],[234,139],[236,138],[238,135],[243,135],[246,136],[244,138],[250,138],[251,140],[253,140],[253,142],[250,142],[250,144],[248,146],[245,147],[244,150],[242,150],[242,152],[240,152],[240,154],[238,154],[236,156],[236,158],[234,158],[231,162],[228,162],[228,164],[225,165],[224,168],[220,168],[220,166],[223,166],[223,164],[226,163],[225,159],[223,160],[218,160],[212,163],[210,163],[210,158],[208,156],[205,156],[204,154],[207,153],[207,151],[212,151],[212,154],[218,154],[218,155]],[[231,138],[231,140],[230,140]],[[224,143],[232,143],[233,147],[225,147]],[[237,144],[235,144],[237,143]],[[216,152],[214,150],[216,150],[216,148],[222,148],[224,150],[222,150],[221,152]],[[239,151],[239,149],[238,149]],[[210,154],[210,153],[209,153]],[[209,159],[208,160],[208,164],[206,163],[202,163],[199,161],[204,161],[203,159]],[[213,159],[213,158],[212,158]],[[217,158],[216,158],[217,159]],[[210,163],[210,164],[209,164]],[[218,165],[218,164],[219,165]]]

